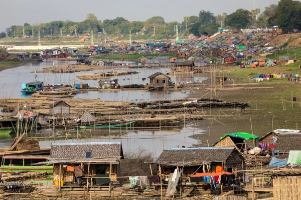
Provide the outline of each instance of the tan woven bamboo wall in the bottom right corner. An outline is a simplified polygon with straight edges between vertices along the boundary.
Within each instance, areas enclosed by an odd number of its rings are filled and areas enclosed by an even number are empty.
[[[301,176],[278,176],[273,179],[274,200],[301,199]]]

